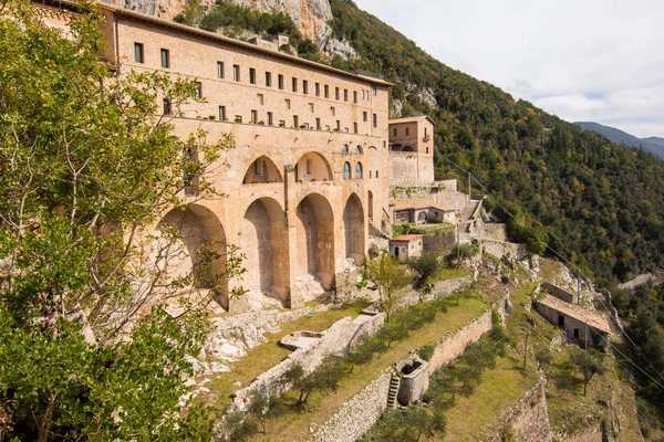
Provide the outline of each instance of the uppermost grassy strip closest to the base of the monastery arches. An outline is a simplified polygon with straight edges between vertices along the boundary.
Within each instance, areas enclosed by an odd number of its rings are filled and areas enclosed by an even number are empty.
[[[235,391],[247,387],[260,373],[274,367],[291,354],[290,350],[277,344],[283,336],[298,330],[323,332],[341,318],[357,316],[367,305],[366,302],[357,302],[344,308],[314,313],[312,316],[303,316],[291,323],[282,324],[281,332],[266,334],[267,343],[250,349],[247,356],[240,360],[229,364],[230,371],[212,378],[211,382],[206,386],[210,389],[210,397],[218,398],[217,404],[222,408],[229,406]],[[237,382],[240,385],[238,386]]]

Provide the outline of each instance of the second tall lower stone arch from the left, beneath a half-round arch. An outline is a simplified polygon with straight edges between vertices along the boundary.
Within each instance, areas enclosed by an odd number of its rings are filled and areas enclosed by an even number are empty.
[[[259,198],[245,211],[242,251],[247,254],[243,288],[287,301],[290,286],[288,224],[272,198]]]

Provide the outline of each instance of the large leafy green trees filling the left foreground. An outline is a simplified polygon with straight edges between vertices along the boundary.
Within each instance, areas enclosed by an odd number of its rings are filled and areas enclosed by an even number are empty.
[[[157,97],[177,108],[194,84],[116,77],[100,62],[100,15],[90,8],[68,39],[28,2],[6,2],[0,18],[2,436],[209,440],[206,411],[178,404],[191,376],[185,357],[207,330],[200,306],[183,304],[178,318],[151,307],[204,275],[155,272],[139,236],[181,206],[187,177],[200,198],[217,194],[206,170],[231,139],[176,137]],[[183,155],[194,151],[200,160]],[[204,248],[200,259],[209,267],[216,254]],[[239,274],[238,259],[231,253],[226,273],[206,281],[216,287]]]

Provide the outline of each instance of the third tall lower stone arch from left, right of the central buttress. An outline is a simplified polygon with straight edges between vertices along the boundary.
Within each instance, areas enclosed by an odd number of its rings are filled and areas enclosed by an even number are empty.
[[[334,214],[325,197],[310,193],[297,209],[297,275],[299,283],[334,286]]]

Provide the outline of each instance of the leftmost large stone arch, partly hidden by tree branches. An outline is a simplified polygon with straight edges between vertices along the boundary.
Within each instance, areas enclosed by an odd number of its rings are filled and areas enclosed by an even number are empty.
[[[208,208],[188,204],[166,213],[155,228],[152,254],[167,281],[188,278],[180,293],[210,291],[228,308],[226,233]]]

